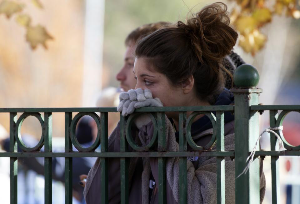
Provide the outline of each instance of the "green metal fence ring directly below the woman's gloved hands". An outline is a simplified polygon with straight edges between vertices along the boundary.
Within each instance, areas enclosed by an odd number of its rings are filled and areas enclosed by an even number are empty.
[[[131,114],[128,119],[127,119],[127,125],[126,125],[126,139],[128,141],[128,144],[130,145],[130,147],[132,147],[134,150],[138,151],[138,152],[145,152],[145,151],[149,151],[151,147],[153,147],[154,143],[156,142],[156,138],[157,138],[157,122],[155,117],[153,116],[152,113],[148,113],[147,116],[150,117],[152,123],[153,123],[153,137],[151,139],[151,141],[148,143],[148,145],[146,145],[145,147],[140,147],[138,146],[131,135],[131,126],[134,122],[134,119],[137,118],[139,115],[142,115],[145,113],[133,113]]]

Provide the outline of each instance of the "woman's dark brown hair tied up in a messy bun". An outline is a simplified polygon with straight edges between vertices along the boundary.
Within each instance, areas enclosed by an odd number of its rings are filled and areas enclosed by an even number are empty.
[[[231,53],[237,32],[229,26],[227,6],[217,2],[204,7],[186,23],[178,21],[138,41],[135,55],[178,86],[193,75],[201,100],[211,101],[224,87],[223,58]]]

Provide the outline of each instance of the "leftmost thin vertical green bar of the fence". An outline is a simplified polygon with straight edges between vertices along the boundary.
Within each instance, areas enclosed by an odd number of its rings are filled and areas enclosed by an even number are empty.
[[[17,152],[17,142],[15,138],[17,113],[9,113],[9,152]],[[10,157],[10,203],[17,204],[17,157]]]

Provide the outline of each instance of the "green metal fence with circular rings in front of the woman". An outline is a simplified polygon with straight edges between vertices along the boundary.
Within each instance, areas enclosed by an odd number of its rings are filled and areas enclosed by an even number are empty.
[[[252,80],[253,81],[253,80]],[[237,80],[235,79],[235,82]],[[238,84],[238,83],[237,83]],[[253,87],[252,82],[245,82],[239,87]],[[255,85],[254,85],[255,86]],[[217,202],[225,203],[225,160],[231,157],[235,160],[235,175],[239,175],[246,167],[246,158],[253,149],[259,136],[258,116],[263,111],[270,111],[270,127],[282,125],[288,112],[300,112],[300,105],[264,106],[258,105],[261,89],[236,88],[231,90],[235,95],[235,104],[228,106],[199,106],[199,107],[144,107],[135,112],[151,112],[155,126],[153,140],[146,147],[134,144],[129,129],[134,114],[129,117],[120,115],[120,144],[121,152],[108,152],[108,112],[117,112],[116,108],[0,108],[0,112],[10,114],[10,152],[0,152],[0,157],[10,157],[10,189],[11,203],[17,203],[17,159],[18,157],[45,158],[45,203],[52,203],[52,157],[65,157],[65,202],[72,203],[72,159],[73,157],[100,157],[101,158],[101,203],[108,203],[108,157],[120,158],[121,164],[121,203],[128,203],[128,166],[130,157],[158,157],[159,203],[166,203],[166,159],[180,157],[180,203],[187,203],[187,157],[217,157]],[[187,117],[187,112],[193,113]],[[278,114],[278,111],[280,114]],[[65,152],[52,152],[52,113],[65,113]],[[73,117],[74,112],[79,112]],[[100,116],[96,114],[100,112]],[[165,141],[165,113],[179,112],[179,151],[167,152]],[[216,114],[212,114],[215,112]],[[235,117],[235,151],[224,149],[224,112],[231,112]],[[22,115],[17,118],[17,113]],[[41,113],[44,113],[43,116]],[[213,136],[206,147],[197,146],[190,133],[193,117],[205,114],[213,125]],[[98,136],[89,148],[83,148],[75,137],[75,127],[80,117],[90,115],[98,126]],[[35,147],[27,147],[21,139],[20,128],[23,120],[28,116],[37,117],[42,126],[42,137]],[[271,156],[272,168],[272,203],[279,203],[279,156],[300,156],[300,146],[294,147],[286,142],[281,131],[276,131],[284,142],[287,151],[275,150],[277,138],[271,133],[271,151],[256,151],[255,159],[246,174],[235,180],[236,203],[259,203],[259,159],[258,156]],[[101,141],[101,144],[100,144]],[[157,141],[158,150],[147,152],[150,146]],[[210,146],[216,141],[216,150]],[[193,151],[187,151],[187,144]],[[45,152],[39,152],[44,145]],[[72,151],[74,145],[79,152]],[[101,145],[101,152],[94,150]],[[128,152],[130,145],[134,152]],[[23,152],[17,152],[17,146]],[[143,152],[141,152],[143,151]],[[145,152],[146,151],[146,152]]]

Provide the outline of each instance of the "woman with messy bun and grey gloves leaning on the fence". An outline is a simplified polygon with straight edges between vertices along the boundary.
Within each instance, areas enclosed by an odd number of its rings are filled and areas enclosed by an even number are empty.
[[[214,3],[204,7],[187,23],[179,21],[173,27],[160,29],[141,39],[136,47],[134,73],[136,90],[120,95],[119,111],[123,115],[142,106],[205,106],[229,105],[233,95],[224,89],[223,58],[231,53],[237,32],[229,26],[227,7]],[[144,91],[143,91],[144,90]],[[150,91],[149,91],[150,90]],[[152,98],[156,97],[155,99]],[[160,99],[160,100],[159,100]],[[161,102],[161,103],[160,103]],[[191,114],[190,112],[187,113]],[[167,150],[178,151],[178,113],[166,113]],[[187,117],[188,117],[187,115]],[[225,150],[234,150],[234,117],[225,114]],[[151,140],[152,123],[138,118],[138,133],[133,134],[142,146]],[[174,127],[174,128],[173,128]],[[109,152],[120,151],[119,126],[109,137]],[[133,130],[134,132],[134,130]],[[212,137],[212,124],[207,117],[198,116],[191,134],[199,146],[205,146]],[[134,137],[133,136],[133,137]],[[212,147],[215,148],[215,147]],[[191,150],[188,147],[188,150]],[[131,150],[132,151],[132,150]],[[216,158],[188,158],[188,203],[216,203]],[[95,163],[85,187],[87,203],[100,200],[100,166]],[[168,158],[167,203],[179,202],[179,159]],[[109,159],[109,203],[120,202],[120,160]],[[158,203],[155,181],[158,181],[157,158],[131,158],[129,167],[129,203]],[[234,161],[225,161],[225,200],[234,203]],[[150,185],[149,185],[150,184]],[[265,183],[261,173],[261,202]]]

